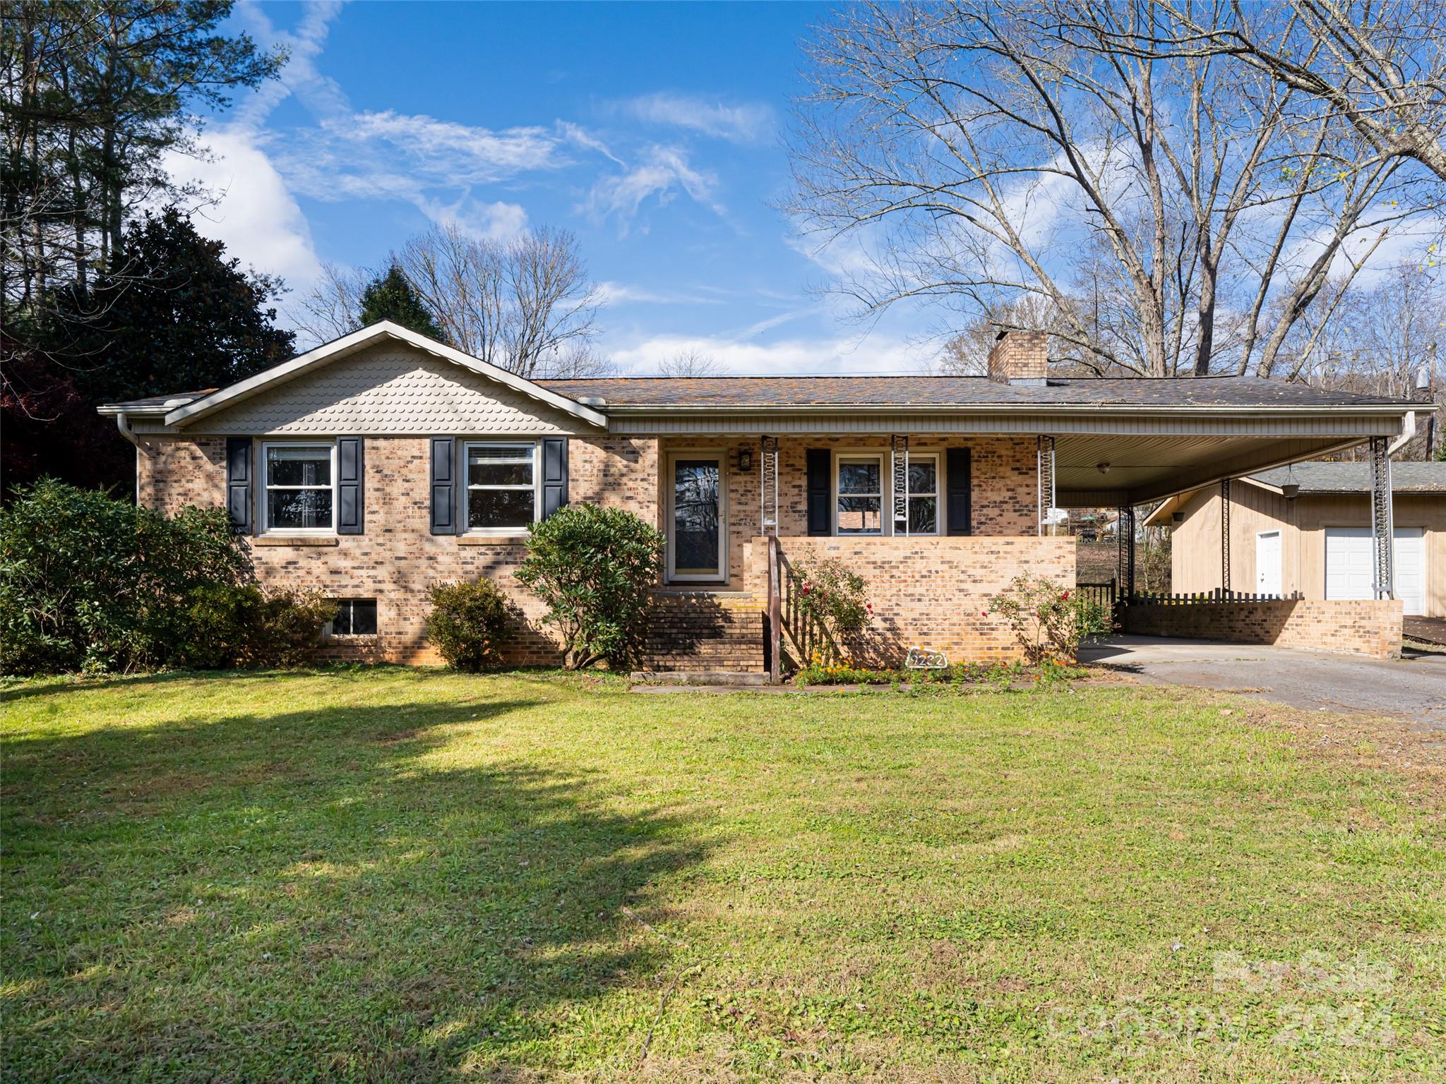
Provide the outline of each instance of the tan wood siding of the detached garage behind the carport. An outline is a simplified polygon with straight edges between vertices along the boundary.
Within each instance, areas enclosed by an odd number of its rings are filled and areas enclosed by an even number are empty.
[[[1184,522],[1171,538],[1176,591],[1220,587],[1220,490],[1199,490],[1181,507]],[[1326,597],[1326,528],[1369,528],[1365,494],[1307,494],[1285,500],[1261,486],[1231,486],[1231,585],[1255,590],[1255,535],[1281,532],[1281,591]],[[1446,496],[1395,494],[1395,526],[1423,528],[1426,616],[1446,617]]]

